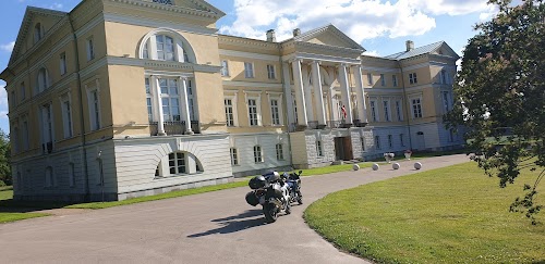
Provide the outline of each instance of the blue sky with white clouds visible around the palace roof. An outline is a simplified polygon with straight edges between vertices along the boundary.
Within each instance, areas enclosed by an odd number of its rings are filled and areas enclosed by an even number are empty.
[[[1,0],[0,71],[8,66],[13,43],[27,5],[72,10],[81,0]],[[265,39],[276,29],[277,39],[293,28],[310,30],[329,23],[360,42],[368,53],[388,55],[404,49],[445,40],[462,55],[473,26],[496,12],[486,0],[208,0],[227,15],[219,20],[221,34]],[[5,83],[0,80],[0,128],[9,133]]]

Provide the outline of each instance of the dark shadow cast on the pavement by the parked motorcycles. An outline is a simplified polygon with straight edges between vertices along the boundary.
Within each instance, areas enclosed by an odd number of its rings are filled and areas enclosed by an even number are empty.
[[[249,229],[252,227],[265,225],[264,217],[245,219],[249,217],[259,216],[261,214],[262,214],[261,210],[249,210],[249,211],[241,213],[241,214],[238,214],[238,215],[233,215],[233,216],[229,216],[229,217],[225,217],[225,218],[213,219],[211,222],[219,223],[222,226],[215,228],[215,229],[211,229],[211,230],[208,230],[208,231],[189,235],[187,237],[189,238],[198,238],[198,237],[204,237],[204,236],[214,235],[214,234],[230,234],[230,232],[242,231],[244,229]]]

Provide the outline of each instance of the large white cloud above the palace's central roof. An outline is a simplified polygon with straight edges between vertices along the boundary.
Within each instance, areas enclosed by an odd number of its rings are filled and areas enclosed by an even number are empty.
[[[265,39],[265,32],[274,28],[281,41],[292,36],[293,28],[306,32],[331,23],[361,42],[423,35],[436,26],[433,15],[487,10],[486,0],[234,0],[237,20],[220,32]]]

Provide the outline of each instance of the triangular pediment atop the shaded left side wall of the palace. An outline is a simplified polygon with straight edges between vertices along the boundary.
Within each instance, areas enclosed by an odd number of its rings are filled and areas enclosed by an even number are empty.
[[[19,29],[15,46],[11,53],[10,65],[16,61],[19,56],[32,49],[35,42],[37,43],[37,41],[34,40],[34,28],[38,23],[43,29],[43,36],[45,37],[47,33],[66,15],[68,13],[61,11],[27,7]]]

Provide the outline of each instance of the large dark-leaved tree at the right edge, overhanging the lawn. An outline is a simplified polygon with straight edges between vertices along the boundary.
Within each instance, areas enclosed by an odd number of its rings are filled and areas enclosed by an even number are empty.
[[[465,127],[472,159],[499,186],[512,184],[520,171],[538,173],[525,185],[511,212],[536,224],[537,186],[545,176],[545,0],[489,0],[498,14],[477,24],[477,35],[463,51],[455,93],[459,102],[445,116],[447,127]]]

